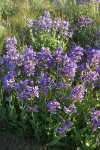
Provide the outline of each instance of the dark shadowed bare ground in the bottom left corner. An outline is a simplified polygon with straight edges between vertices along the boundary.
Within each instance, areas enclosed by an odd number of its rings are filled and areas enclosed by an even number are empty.
[[[16,135],[0,131],[0,150],[58,150],[57,148],[47,148],[32,140],[18,138]],[[60,149],[61,150],[61,149]]]

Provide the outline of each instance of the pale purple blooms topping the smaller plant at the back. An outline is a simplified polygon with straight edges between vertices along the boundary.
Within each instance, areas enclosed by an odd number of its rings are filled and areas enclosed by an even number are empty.
[[[51,31],[52,33],[60,31],[59,33],[65,37],[72,37],[73,34],[73,32],[69,31],[69,21],[61,21],[59,18],[52,20],[48,11],[45,11],[43,16],[40,16],[38,20],[32,21],[27,19],[26,24],[36,34],[39,31]]]

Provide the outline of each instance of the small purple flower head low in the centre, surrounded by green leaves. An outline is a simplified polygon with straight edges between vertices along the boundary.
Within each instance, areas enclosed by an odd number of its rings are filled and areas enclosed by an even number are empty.
[[[56,109],[61,109],[60,103],[56,101],[56,99],[53,99],[52,101],[47,103],[47,107],[49,108],[49,111],[53,114],[56,114]]]

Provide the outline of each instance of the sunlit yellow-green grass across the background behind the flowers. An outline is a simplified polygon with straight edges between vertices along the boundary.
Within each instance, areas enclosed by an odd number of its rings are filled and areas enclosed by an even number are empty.
[[[34,20],[44,11],[50,11],[52,16],[62,20],[73,20],[84,15],[95,20],[96,28],[100,26],[100,3],[77,5],[71,0],[59,0],[59,4],[55,0],[45,0],[45,3],[44,0],[0,0],[0,47],[3,47],[7,37],[23,34],[27,18]]]

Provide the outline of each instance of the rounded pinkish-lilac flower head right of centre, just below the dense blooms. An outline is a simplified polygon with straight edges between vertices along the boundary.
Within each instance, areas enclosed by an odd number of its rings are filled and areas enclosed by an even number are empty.
[[[70,98],[74,100],[81,100],[84,97],[86,89],[81,85],[76,85],[70,92]]]

